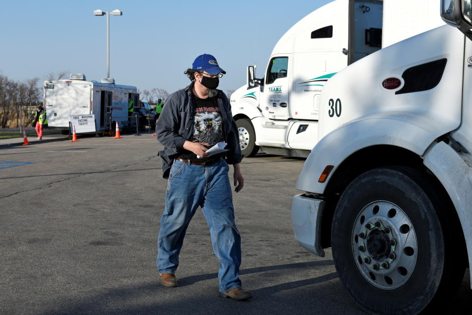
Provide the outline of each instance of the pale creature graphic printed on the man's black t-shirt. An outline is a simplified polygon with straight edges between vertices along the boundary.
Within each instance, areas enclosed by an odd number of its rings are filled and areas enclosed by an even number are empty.
[[[200,107],[196,109],[194,118],[195,132],[193,136],[199,142],[210,145],[223,141],[222,119],[219,109],[216,107]]]

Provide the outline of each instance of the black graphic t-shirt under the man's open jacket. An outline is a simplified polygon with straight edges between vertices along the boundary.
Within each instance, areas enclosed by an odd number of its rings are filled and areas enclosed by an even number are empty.
[[[194,95],[195,116],[192,142],[209,143],[210,146],[225,141],[223,137],[223,119],[221,118],[220,108],[216,97],[199,98]],[[206,162],[216,161],[222,154],[215,154],[206,158],[198,159],[197,155],[189,150],[183,150],[179,155],[181,159],[190,159],[192,161]]]

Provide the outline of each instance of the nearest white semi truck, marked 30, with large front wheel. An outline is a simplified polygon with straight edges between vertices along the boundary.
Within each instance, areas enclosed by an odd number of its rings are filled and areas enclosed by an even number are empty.
[[[448,314],[472,262],[471,0],[431,2],[449,25],[324,85],[320,141],[296,183],[295,239],[321,257],[331,247],[370,314]]]

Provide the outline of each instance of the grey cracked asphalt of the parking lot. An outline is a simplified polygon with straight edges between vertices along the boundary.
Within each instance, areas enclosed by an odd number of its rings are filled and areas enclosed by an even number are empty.
[[[160,286],[160,148],[150,135],[0,146],[0,314],[365,314],[341,285],[331,251],[319,258],[295,242],[297,158],[243,160],[245,187],[234,203],[251,300],[217,296],[201,211],[180,254],[179,286]],[[470,297],[467,272],[449,314],[471,314]]]

